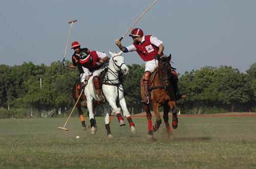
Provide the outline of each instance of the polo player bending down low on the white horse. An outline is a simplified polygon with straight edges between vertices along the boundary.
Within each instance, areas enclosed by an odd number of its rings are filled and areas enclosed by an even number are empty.
[[[83,72],[81,74],[81,82],[85,87],[88,84],[88,80],[93,76],[93,84],[100,101],[104,101],[102,95],[99,75],[104,70],[103,63],[108,61],[109,57],[106,57],[105,53],[93,50],[88,52],[87,50],[81,50],[79,63],[82,66]]]

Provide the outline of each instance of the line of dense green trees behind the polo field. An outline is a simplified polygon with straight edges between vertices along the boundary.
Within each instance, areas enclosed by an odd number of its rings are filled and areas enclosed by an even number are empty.
[[[144,65],[128,65],[125,77],[127,107],[134,113],[142,111],[140,78]],[[0,118],[6,110],[47,111],[74,106],[72,87],[79,74],[60,62],[18,66],[0,65]],[[41,79],[41,85],[40,85]],[[255,110],[256,63],[246,73],[230,66],[202,67],[179,76],[179,89],[186,94],[178,101],[183,114],[205,114],[227,111]]]

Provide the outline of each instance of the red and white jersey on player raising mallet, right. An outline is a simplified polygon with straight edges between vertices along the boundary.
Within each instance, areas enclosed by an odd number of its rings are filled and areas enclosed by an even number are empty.
[[[127,46],[128,51],[137,51],[143,61],[154,60],[155,55],[158,53],[158,46],[163,42],[157,39],[153,35],[146,35],[142,37],[142,41],[139,45],[133,43],[130,46]],[[161,53],[160,55],[163,55]]]

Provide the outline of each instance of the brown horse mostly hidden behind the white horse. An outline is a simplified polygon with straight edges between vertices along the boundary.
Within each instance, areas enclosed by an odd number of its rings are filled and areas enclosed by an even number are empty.
[[[73,89],[72,89],[72,96],[74,98],[74,101],[76,102],[79,95],[81,93],[81,85],[80,85],[80,80],[77,80],[73,86]],[[82,101],[82,105],[81,105],[81,101]],[[93,102],[93,109],[99,105],[100,102],[99,101],[94,101]],[[82,108],[81,106],[84,106],[86,107],[87,106],[87,103],[86,103],[86,95],[84,95],[84,93],[81,95],[80,97],[80,101],[78,101],[78,103],[76,104],[76,108],[78,110],[78,114],[79,114],[79,117],[80,117],[80,120],[81,120],[81,124],[82,124],[82,129],[83,130],[86,130],[86,122],[84,121],[84,117],[83,117],[83,112],[82,112]],[[89,116],[89,115],[88,115]],[[96,120],[94,119],[94,123],[96,124]]]

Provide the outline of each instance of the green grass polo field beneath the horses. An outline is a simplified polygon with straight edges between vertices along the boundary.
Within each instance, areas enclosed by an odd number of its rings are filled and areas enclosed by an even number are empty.
[[[162,124],[156,142],[147,140],[146,118],[133,118],[135,135],[113,118],[112,139],[103,118],[95,135],[78,118],[70,131],[57,129],[65,121],[0,120],[0,168],[256,168],[256,117],[181,117],[174,139]]]

